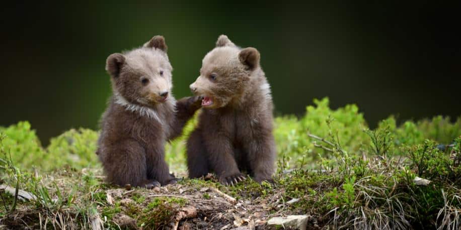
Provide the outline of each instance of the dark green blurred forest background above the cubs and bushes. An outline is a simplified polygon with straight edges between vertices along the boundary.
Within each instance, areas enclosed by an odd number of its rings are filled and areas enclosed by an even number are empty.
[[[460,2],[351,4],[222,1],[24,3],[0,9],[0,126],[28,120],[43,144],[69,128],[98,128],[111,94],[105,60],[164,35],[174,94],[191,95],[203,56],[220,34],[253,46],[276,114],[313,98],[356,103],[371,128],[461,114]]]

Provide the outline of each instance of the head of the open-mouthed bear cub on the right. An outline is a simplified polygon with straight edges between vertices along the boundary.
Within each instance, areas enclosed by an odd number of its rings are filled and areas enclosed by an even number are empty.
[[[261,72],[260,54],[255,48],[241,49],[225,35],[202,61],[200,76],[190,85],[192,92],[203,96],[204,108],[219,108],[238,103],[250,83]]]

